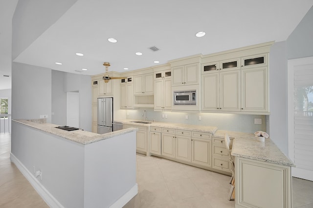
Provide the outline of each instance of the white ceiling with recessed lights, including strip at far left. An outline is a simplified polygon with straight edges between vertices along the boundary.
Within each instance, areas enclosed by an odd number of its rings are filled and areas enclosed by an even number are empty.
[[[4,1],[0,23],[9,29],[17,0]],[[313,0],[77,0],[13,61],[85,75],[104,73],[107,61],[109,71],[126,72],[123,68],[131,71],[180,57],[284,41],[312,5]],[[11,41],[3,30],[1,44]],[[197,38],[199,31],[206,35]],[[152,46],[159,50],[152,51]],[[5,54],[4,60],[0,57],[0,89],[6,89],[2,74],[11,74],[9,45],[0,53]]]

